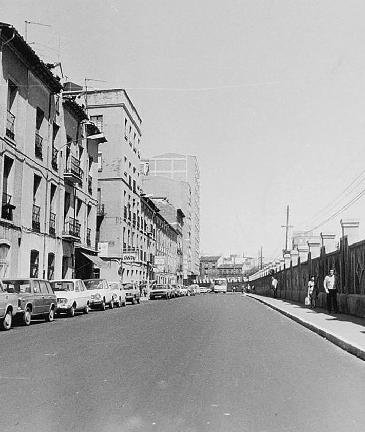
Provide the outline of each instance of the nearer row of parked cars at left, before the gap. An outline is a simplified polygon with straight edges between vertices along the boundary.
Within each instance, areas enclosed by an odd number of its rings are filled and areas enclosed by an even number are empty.
[[[13,321],[28,326],[32,318],[53,321],[55,315],[73,317],[90,309],[140,303],[135,283],[121,284],[106,279],[43,280],[35,278],[0,281],[0,327],[9,330]]]

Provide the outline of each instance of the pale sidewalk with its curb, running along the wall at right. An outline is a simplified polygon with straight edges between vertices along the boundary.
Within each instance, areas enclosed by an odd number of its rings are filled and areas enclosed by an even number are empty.
[[[365,360],[365,319],[343,313],[330,314],[325,309],[311,309],[309,306],[286,299],[252,293],[246,296],[275,309],[345,351]]]

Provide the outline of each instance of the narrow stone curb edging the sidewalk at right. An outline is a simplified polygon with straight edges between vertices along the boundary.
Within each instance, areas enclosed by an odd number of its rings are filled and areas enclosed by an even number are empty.
[[[323,327],[316,326],[309,321],[303,320],[303,318],[299,318],[298,316],[295,316],[291,314],[290,312],[284,311],[277,306],[271,305],[270,303],[265,302],[265,300],[257,297],[252,297],[249,294],[246,294],[247,297],[252,298],[254,300],[257,300],[258,302],[268,306],[271,309],[274,309],[277,312],[280,312],[282,315],[285,315],[286,317],[290,318],[291,320],[297,322],[298,324],[301,324],[302,326],[308,328],[309,330],[313,331],[314,333],[319,334],[320,336],[324,337],[328,341],[332,342],[333,344],[337,345],[338,347],[342,348],[344,351],[349,352],[350,354],[355,355],[361,360],[365,360],[365,350],[358,345],[356,345],[353,342],[341,339],[340,337],[336,336],[334,333],[331,333],[328,330],[325,330]]]

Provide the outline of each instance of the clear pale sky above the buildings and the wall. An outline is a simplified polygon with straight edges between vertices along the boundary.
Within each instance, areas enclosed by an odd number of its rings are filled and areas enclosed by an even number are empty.
[[[69,80],[127,89],[143,157],[198,157],[203,254],[274,258],[286,205],[310,230],[365,188],[363,1],[2,3],[23,35],[52,26],[27,40]],[[316,232],[356,217],[365,238],[364,199]]]

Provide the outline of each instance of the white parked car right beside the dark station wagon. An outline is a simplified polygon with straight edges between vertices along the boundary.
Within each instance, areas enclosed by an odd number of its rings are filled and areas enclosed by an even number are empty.
[[[57,296],[57,314],[89,313],[91,296],[81,279],[51,280],[50,284]]]

